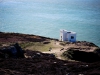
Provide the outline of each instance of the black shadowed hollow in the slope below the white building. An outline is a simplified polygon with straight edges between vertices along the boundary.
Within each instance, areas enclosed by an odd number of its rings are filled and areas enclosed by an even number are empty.
[[[72,60],[77,60],[82,62],[96,62],[100,60],[100,56],[97,53],[72,50],[72,49],[65,51],[63,53],[63,56]]]

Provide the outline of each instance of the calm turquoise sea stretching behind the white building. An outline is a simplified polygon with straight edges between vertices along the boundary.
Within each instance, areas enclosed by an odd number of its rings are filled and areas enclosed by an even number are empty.
[[[100,46],[100,0],[0,0],[0,31],[59,39],[59,30]]]

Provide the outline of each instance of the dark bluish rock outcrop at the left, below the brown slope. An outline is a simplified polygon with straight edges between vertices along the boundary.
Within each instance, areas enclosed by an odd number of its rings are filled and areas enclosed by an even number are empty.
[[[0,57],[1,58],[24,58],[25,51],[19,46],[18,43],[15,43],[12,46],[1,47]]]

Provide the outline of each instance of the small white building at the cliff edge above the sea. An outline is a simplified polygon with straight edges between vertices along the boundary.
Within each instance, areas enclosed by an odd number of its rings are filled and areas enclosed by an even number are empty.
[[[76,32],[60,30],[60,41],[76,42]]]

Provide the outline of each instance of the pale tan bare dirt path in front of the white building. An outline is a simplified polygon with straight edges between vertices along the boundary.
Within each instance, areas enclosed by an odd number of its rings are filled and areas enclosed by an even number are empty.
[[[45,51],[45,52],[43,52],[43,53],[50,53],[50,54],[55,54],[55,56],[58,58],[58,59],[62,59],[62,57],[61,57],[61,55],[62,55],[62,53],[64,52],[64,51],[66,51],[68,48],[70,48],[70,47],[74,47],[74,48],[84,48],[83,49],[83,51],[86,51],[86,52],[92,52],[94,49],[95,49],[95,47],[89,47],[89,46],[77,46],[77,45],[75,45],[75,44],[70,44],[70,45],[66,45],[66,46],[62,46],[62,45],[60,45],[59,44],[60,42],[55,42],[55,41],[53,41],[52,42],[52,45],[53,45],[53,47],[55,47],[55,48],[51,48],[51,50],[48,50],[48,51]],[[90,48],[89,50],[88,50],[88,48]]]

